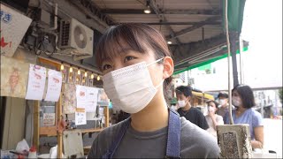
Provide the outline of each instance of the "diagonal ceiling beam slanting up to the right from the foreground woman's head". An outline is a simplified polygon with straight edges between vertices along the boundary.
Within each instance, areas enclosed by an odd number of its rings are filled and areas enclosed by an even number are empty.
[[[195,30],[195,29],[197,29],[197,28],[203,27],[203,26],[205,26],[207,23],[212,22],[212,21],[216,21],[216,20],[218,20],[218,19],[220,19],[220,17],[219,17],[219,16],[216,16],[216,17],[211,17],[211,18],[209,18],[209,19],[206,19],[206,20],[204,20],[204,21],[197,22],[197,23],[195,23],[195,25],[193,25],[192,27],[187,27],[187,28],[185,28],[185,29],[183,29],[183,30],[180,30],[180,31],[177,32],[174,36],[172,36],[172,35],[166,36],[166,39],[167,39],[167,40],[170,40],[170,39],[178,38],[178,37],[179,37],[180,35],[182,35],[182,34],[187,34],[188,32],[191,32],[191,31],[193,31],[193,30]]]

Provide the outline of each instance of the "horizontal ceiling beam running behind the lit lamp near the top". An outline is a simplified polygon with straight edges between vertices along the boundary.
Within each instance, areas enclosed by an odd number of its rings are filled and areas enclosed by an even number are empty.
[[[159,11],[159,10],[158,10]],[[103,9],[101,10],[104,14],[144,14],[143,9]],[[198,14],[198,15],[220,15],[221,10],[165,10],[159,11],[161,14]],[[150,12],[149,14],[155,14]]]

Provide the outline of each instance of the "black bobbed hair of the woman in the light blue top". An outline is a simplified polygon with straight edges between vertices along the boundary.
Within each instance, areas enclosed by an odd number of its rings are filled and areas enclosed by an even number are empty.
[[[248,85],[237,85],[233,87],[233,91],[240,95],[244,108],[251,108],[256,105],[253,90]]]

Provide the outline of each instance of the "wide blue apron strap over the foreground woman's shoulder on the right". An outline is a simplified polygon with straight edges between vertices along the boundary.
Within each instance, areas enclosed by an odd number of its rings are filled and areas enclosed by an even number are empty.
[[[167,148],[165,158],[180,158],[180,116],[169,110]]]

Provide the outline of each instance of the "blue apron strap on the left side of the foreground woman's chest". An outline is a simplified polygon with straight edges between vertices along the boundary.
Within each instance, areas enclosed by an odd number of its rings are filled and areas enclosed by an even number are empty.
[[[119,146],[119,143],[121,142],[121,140],[123,139],[127,127],[131,124],[131,117],[128,117],[126,119],[126,121],[122,124],[118,135],[116,136],[116,138],[114,139],[114,141],[111,144],[111,148],[107,150],[107,153],[105,155],[103,155],[103,158],[113,158],[113,155],[116,151],[116,149]]]

